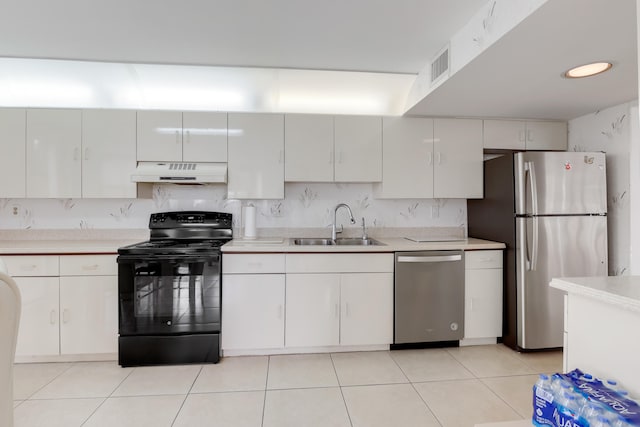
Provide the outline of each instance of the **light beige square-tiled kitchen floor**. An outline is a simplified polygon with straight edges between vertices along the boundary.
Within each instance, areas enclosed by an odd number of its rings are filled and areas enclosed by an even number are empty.
[[[15,426],[466,427],[527,419],[562,353],[502,345],[227,357],[216,365],[17,364]]]

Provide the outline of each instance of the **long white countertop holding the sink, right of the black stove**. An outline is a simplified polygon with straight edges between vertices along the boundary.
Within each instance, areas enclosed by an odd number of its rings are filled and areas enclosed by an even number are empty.
[[[375,237],[375,240],[383,245],[372,246],[311,246],[295,245],[291,238],[262,238],[255,240],[234,239],[222,247],[225,253],[251,253],[251,252],[399,252],[399,251],[432,251],[432,250],[483,250],[504,249],[504,243],[492,242],[482,239],[461,239],[453,241],[414,242],[403,237]]]

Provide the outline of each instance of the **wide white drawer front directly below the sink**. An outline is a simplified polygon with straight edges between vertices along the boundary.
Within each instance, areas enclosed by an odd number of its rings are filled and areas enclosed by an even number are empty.
[[[393,273],[393,254],[287,254],[287,273]]]

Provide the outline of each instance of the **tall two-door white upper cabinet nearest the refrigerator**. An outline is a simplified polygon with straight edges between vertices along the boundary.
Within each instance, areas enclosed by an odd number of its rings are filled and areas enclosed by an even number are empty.
[[[482,121],[384,119],[383,181],[378,198],[482,197]]]

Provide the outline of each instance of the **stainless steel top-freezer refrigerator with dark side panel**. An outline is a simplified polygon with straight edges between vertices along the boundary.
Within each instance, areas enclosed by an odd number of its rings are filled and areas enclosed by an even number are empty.
[[[468,200],[469,236],[502,241],[503,342],[563,345],[564,293],[553,277],[607,275],[603,153],[522,152],[484,163],[484,198]]]

